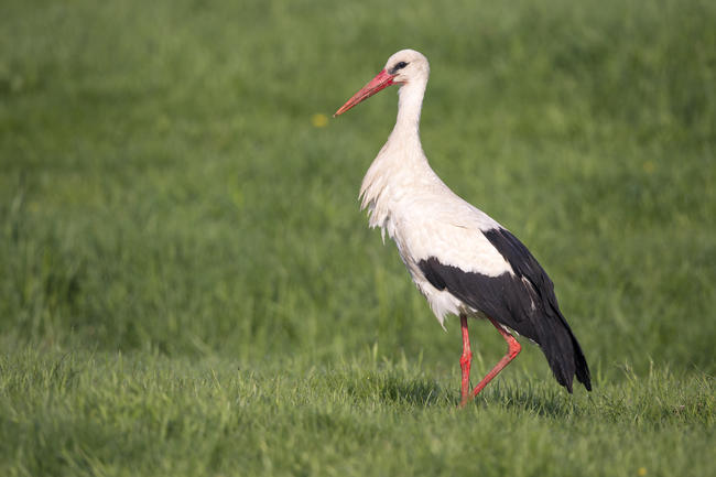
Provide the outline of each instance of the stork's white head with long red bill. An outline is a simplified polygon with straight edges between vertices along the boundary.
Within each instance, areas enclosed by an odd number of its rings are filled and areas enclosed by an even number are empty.
[[[336,111],[336,116],[343,115],[357,104],[370,98],[376,93],[391,85],[410,85],[413,83],[425,84],[430,75],[427,58],[415,50],[401,50],[393,54],[386,67],[376,75],[366,86],[360,88],[345,105]]]

